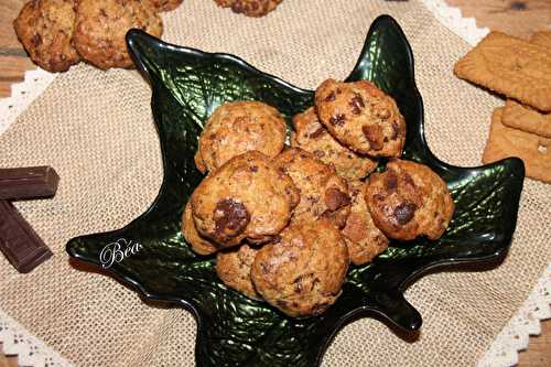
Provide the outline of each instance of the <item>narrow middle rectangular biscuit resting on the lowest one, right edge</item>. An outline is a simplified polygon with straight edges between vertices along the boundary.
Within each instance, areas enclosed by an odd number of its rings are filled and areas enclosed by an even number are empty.
[[[508,99],[505,104],[503,123],[542,138],[551,138],[551,114],[541,114],[512,99]]]

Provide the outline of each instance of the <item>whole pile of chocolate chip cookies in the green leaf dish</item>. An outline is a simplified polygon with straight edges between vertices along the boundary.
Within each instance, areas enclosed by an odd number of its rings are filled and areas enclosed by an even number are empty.
[[[454,203],[436,173],[400,159],[406,121],[369,82],[325,80],[293,128],[287,147],[273,107],[218,107],[198,139],[207,175],[182,231],[195,252],[216,252],[225,284],[305,317],[336,301],[350,261],[370,262],[392,238],[442,236]],[[371,173],[381,158],[386,171]]]

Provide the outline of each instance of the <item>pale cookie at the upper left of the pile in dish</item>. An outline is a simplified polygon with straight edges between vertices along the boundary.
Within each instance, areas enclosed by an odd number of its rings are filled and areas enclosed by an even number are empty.
[[[257,150],[270,158],[283,150],[285,120],[260,101],[236,101],[219,106],[201,132],[195,158],[197,169],[214,171],[231,158]]]

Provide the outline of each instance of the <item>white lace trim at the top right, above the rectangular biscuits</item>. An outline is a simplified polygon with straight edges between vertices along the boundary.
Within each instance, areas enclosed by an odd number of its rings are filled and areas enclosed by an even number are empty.
[[[442,24],[473,46],[489,32],[487,28],[478,28],[474,18],[463,18],[460,8],[450,7],[444,0],[422,2]]]

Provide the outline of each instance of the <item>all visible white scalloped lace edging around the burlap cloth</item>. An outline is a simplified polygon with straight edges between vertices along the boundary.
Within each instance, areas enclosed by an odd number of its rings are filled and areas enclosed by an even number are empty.
[[[489,30],[480,29],[473,18],[463,18],[461,10],[444,0],[421,0],[434,17],[452,32],[475,45]],[[12,86],[10,98],[0,99],[0,134],[36,98],[55,74],[41,68],[26,72],[23,83]],[[517,314],[497,335],[490,348],[478,361],[478,367],[509,367],[518,363],[518,352],[528,347],[529,336],[539,335],[540,321],[551,319],[551,265],[537,282]],[[22,366],[58,367],[71,364],[44,343],[31,335],[22,325],[0,310],[0,343],[4,354],[18,355]]]

